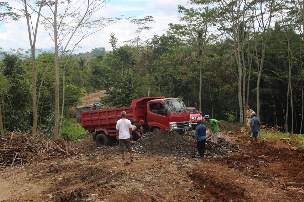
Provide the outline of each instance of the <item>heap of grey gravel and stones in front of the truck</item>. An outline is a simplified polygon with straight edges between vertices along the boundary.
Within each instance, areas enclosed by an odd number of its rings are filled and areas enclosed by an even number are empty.
[[[162,129],[155,132],[144,134],[138,142],[133,145],[133,153],[151,155],[173,155],[176,157],[199,157],[197,148],[194,154],[194,132],[186,132],[182,135]],[[196,146],[196,145],[195,145]],[[211,140],[206,142],[205,157],[223,158],[226,154],[243,151],[236,144],[227,142],[225,139],[218,138],[218,151]]]

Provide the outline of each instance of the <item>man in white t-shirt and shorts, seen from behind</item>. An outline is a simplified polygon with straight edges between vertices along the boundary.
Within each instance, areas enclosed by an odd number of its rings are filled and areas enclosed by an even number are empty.
[[[132,156],[132,124],[131,121],[126,119],[126,112],[121,112],[121,119],[116,123],[116,139],[119,140],[119,149],[121,150],[123,157],[125,158],[125,145],[130,152],[130,158]]]

